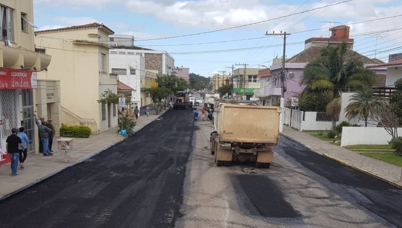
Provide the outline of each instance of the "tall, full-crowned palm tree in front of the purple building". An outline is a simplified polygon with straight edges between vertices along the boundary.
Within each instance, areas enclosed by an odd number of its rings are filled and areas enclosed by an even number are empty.
[[[345,61],[346,43],[339,47],[326,47],[315,62],[307,64],[300,84],[307,85],[303,93],[332,92],[333,101],[327,105],[327,114],[332,117],[332,127],[340,115],[340,91],[350,88],[369,88],[375,83],[372,70],[356,59]]]

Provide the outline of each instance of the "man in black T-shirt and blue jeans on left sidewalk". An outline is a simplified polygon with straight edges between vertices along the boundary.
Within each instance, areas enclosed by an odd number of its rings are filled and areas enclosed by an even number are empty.
[[[17,170],[18,170],[18,161],[20,158],[20,150],[18,149],[18,146],[21,148],[24,148],[24,145],[22,145],[22,141],[20,137],[17,136],[18,129],[13,128],[11,129],[11,135],[7,137],[6,140],[6,150],[7,153],[10,154],[11,158],[11,175],[12,176],[17,176]]]

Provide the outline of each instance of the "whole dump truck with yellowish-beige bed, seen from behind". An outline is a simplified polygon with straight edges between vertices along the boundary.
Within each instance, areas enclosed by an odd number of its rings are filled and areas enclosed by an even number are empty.
[[[251,161],[269,168],[272,147],[278,142],[280,111],[280,107],[260,106],[254,101],[218,100],[211,133],[216,165]]]

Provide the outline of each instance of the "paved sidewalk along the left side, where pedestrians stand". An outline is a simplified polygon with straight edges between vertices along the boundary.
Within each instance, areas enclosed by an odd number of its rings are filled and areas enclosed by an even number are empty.
[[[158,115],[155,115],[155,111],[152,110],[149,117],[145,115],[138,117],[134,131],[141,130],[167,110],[162,110],[162,113]],[[91,135],[89,138],[74,138],[73,150],[69,153],[68,160],[65,163],[64,156],[57,150],[57,139],[55,138],[52,146],[54,155],[44,157],[39,153],[28,154],[27,160],[24,162],[25,169],[18,168],[17,176],[11,176],[10,163],[0,167],[0,200],[53,176],[67,167],[85,161],[124,139],[117,134],[117,127],[97,135]]]

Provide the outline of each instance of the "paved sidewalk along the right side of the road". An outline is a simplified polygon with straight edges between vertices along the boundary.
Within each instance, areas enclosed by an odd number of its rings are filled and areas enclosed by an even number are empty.
[[[303,144],[316,153],[402,188],[402,182],[399,181],[401,167],[360,155],[340,146],[332,145],[329,142],[322,141],[290,127],[283,126],[281,134]]]

